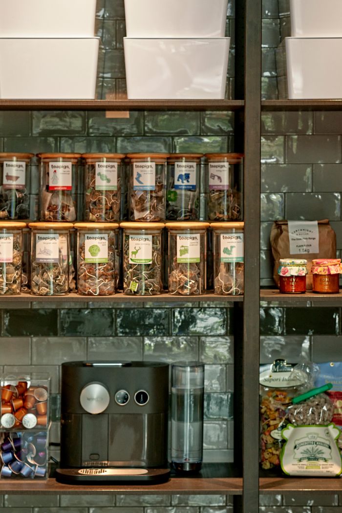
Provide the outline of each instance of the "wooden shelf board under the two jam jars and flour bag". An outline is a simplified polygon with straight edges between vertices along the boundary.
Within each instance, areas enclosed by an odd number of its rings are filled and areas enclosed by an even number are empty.
[[[316,294],[315,292],[307,291],[305,294],[280,294],[278,289],[261,289],[260,301],[270,303],[279,302],[289,304],[289,306],[302,305],[305,303],[312,303],[312,305],[321,305],[322,303],[327,306],[332,306],[333,303],[342,303],[342,294]]]

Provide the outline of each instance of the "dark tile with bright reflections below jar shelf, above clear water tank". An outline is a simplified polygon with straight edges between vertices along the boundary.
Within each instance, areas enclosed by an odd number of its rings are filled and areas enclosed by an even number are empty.
[[[175,308],[172,313],[174,335],[225,335],[227,332],[225,308]]]

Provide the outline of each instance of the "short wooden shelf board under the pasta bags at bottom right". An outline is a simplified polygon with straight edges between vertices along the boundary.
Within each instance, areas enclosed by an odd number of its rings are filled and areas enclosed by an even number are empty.
[[[317,494],[340,494],[341,478],[261,478],[261,494],[293,494],[294,492],[315,492]]]

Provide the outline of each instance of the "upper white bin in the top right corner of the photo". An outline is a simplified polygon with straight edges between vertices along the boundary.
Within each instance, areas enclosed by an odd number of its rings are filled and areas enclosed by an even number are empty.
[[[293,37],[341,37],[341,0],[290,0]]]

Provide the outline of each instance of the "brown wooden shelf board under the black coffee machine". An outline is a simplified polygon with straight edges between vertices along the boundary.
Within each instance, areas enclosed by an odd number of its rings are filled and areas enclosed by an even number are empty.
[[[68,485],[58,483],[54,478],[47,481],[38,479],[1,479],[0,494],[29,494],[29,495],[242,495],[243,480],[236,477],[236,468],[232,463],[208,463],[202,471],[193,476],[171,477],[167,483],[149,485],[111,485],[111,484],[84,484]],[[231,476],[231,477],[227,477]]]

